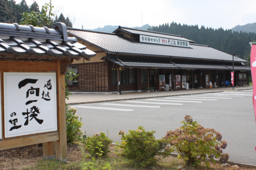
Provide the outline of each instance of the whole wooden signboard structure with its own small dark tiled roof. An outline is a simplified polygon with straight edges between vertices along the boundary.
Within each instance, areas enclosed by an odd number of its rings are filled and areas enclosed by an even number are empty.
[[[0,150],[43,143],[52,159],[55,141],[55,158],[67,161],[65,73],[73,59],[95,55],[63,23],[0,23]]]

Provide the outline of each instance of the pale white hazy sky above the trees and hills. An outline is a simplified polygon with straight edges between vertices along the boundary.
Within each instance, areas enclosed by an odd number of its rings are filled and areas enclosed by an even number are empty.
[[[16,0],[20,3],[21,0]],[[34,0],[26,0],[28,6]],[[40,6],[50,0],[35,0]],[[95,29],[106,25],[135,27],[177,22],[208,28],[231,29],[256,22],[256,0],[52,0],[59,16],[73,28]]]

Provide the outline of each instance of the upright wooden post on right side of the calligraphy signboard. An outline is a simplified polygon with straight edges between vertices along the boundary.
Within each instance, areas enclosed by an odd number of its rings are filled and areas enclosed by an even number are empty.
[[[60,140],[56,140],[56,159],[62,162],[67,161],[67,133],[66,133],[66,98],[65,98],[65,75],[60,73],[60,61],[57,71],[57,123]],[[43,144],[50,146],[50,144]],[[45,149],[45,148],[44,148]],[[49,152],[49,151],[47,151]]]

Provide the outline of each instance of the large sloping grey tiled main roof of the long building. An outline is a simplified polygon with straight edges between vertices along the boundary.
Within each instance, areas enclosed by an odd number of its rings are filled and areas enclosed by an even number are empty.
[[[90,45],[96,46],[109,54],[145,55],[155,57],[172,57],[183,59],[200,59],[212,61],[232,61],[232,55],[213,49],[207,45],[190,43],[190,47],[176,47],[130,40],[120,34],[96,32],[68,28],[74,36]],[[244,59],[235,59],[235,62],[248,62]]]

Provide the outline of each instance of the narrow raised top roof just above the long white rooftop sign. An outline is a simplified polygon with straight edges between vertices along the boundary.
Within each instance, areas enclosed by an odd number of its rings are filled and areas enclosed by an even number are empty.
[[[161,37],[161,38],[168,38],[168,39],[174,39],[174,40],[194,42],[194,41],[188,40],[186,38],[183,38],[182,36],[178,36],[178,35],[174,35],[174,34],[166,34],[166,33],[154,32],[154,31],[146,31],[146,30],[139,30],[139,29],[134,29],[134,28],[120,27],[120,26],[114,32],[117,32],[118,30],[128,32],[130,34],[138,34],[138,35],[144,35],[144,36],[153,36],[153,37]]]

